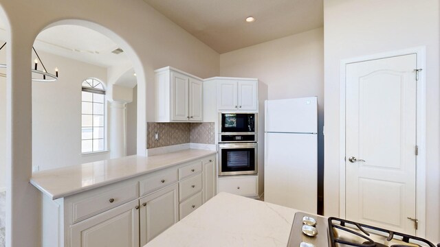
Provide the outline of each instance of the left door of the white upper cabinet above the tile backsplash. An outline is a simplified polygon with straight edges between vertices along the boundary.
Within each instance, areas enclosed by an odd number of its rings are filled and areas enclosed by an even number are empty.
[[[172,115],[173,121],[188,121],[188,76],[181,73],[171,72],[171,83],[173,95],[172,102]]]

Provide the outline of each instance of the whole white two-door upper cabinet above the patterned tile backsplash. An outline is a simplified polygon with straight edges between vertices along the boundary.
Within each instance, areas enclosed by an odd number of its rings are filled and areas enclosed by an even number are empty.
[[[202,80],[172,67],[155,73],[156,121],[203,121]]]

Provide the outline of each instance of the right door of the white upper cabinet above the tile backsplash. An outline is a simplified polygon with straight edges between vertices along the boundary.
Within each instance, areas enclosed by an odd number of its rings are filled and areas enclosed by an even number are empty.
[[[203,82],[194,78],[190,78],[189,84],[190,121],[203,121]]]

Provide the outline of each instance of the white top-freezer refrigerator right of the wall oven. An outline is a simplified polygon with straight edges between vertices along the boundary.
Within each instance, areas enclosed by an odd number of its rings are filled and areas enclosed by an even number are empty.
[[[317,97],[265,101],[266,202],[317,213],[317,133]]]

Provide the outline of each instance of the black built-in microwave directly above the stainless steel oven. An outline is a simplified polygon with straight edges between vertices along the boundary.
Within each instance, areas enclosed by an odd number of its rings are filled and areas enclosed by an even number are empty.
[[[219,132],[256,132],[256,115],[256,113],[220,113]]]

